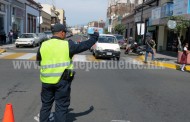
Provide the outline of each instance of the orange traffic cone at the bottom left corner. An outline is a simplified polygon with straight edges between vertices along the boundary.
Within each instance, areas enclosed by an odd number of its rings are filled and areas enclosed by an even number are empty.
[[[13,107],[12,104],[7,104],[5,113],[3,116],[3,122],[14,122]]]

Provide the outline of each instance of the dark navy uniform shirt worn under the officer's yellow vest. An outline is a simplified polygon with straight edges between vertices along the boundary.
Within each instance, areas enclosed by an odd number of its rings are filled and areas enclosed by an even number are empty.
[[[81,53],[83,51],[86,51],[88,49],[90,49],[98,40],[99,34],[93,34],[90,36],[90,39],[87,41],[82,41],[79,44],[76,44],[74,41],[72,40],[68,40],[69,43],[69,56],[70,58],[72,58],[75,54]],[[52,39],[60,39],[59,37],[53,36]],[[51,41],[51,40],[49,40]],[[40,47],[38,49],[37,52],[37,56],[36,56],[37,61],[39,62],[40,65],[40,61],[41,61],[41,54],[40,54]]]

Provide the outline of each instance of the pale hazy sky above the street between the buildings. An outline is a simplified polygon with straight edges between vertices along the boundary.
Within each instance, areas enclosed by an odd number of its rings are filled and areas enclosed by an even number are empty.
[[[85,25],[91,21],[106,21],[108,0],[35,0],[41,4],[51,4],[65,10],[69,26]]]

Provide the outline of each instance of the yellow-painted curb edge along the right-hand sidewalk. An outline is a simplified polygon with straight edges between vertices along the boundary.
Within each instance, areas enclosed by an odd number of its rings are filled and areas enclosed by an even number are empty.
[[[135,58],[135,60],[138,60],[138,61],[141,61],[142,63],[144,63],[144,56],[139,56],[139,57]],[[161,61],[154,61],[151,63],[151,65],[166,67],[166,68],[175,69],[175,70],[179,70],[180,66],[181,66],[180,64],[172,64],[172,63],[161,62]],[[186,69],[186,71],[190,71],[190,66],[187,65],[185,67],[185,69]]]

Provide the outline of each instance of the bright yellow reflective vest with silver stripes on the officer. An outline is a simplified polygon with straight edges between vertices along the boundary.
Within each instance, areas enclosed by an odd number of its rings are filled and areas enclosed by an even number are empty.
[[[40,80],[43,83],[56,84],[65,69],[73,70],[72,59],[69,56],[69,44],[66,40],[50,39],[43,42],[40,55]]]

